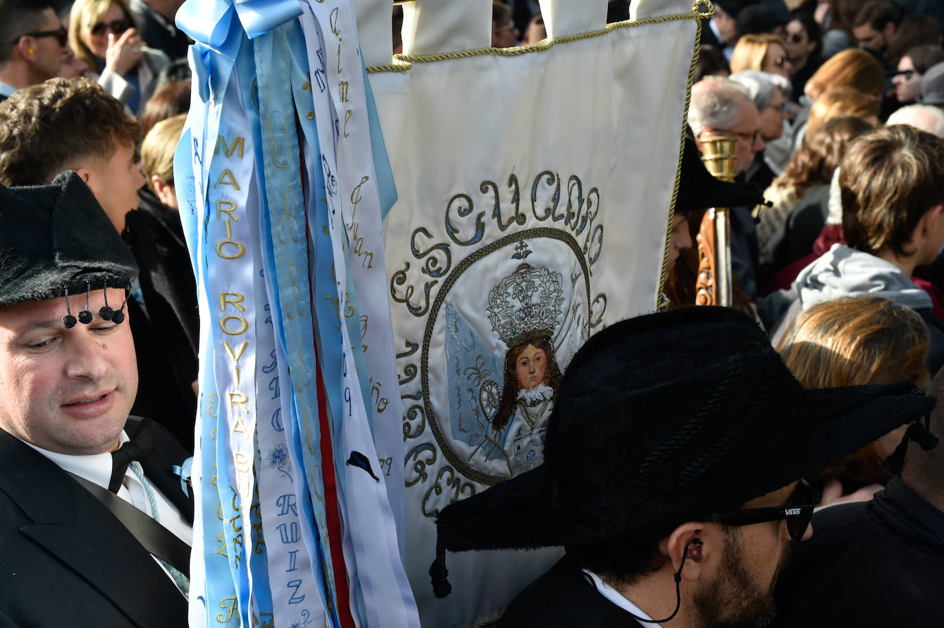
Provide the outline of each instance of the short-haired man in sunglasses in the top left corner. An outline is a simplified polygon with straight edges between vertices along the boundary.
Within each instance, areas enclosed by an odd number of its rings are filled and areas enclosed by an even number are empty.
[[[59,74],[66,31],[49,3],[0,0],[0,101]]]

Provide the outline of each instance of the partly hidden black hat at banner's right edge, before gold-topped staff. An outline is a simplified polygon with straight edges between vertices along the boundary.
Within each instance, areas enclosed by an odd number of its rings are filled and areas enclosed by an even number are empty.
[[[699,155],[698,144],[691,133],[685,133],[682,154],[682,176],[675,212],[687,214],[708,207],[753,208],[764,202],[761,189],[753,183],[729,183],[712,177]]]

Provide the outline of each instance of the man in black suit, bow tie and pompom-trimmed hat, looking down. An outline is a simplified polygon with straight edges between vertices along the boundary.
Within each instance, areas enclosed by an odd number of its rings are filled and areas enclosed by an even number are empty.
[[[188,454],[128,416],[134,260],[75,173],[0,187],[0,224],[0,625],[186,626]]]

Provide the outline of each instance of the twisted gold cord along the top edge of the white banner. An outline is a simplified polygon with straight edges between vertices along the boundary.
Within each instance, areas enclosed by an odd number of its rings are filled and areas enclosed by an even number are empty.
[[[706,11],[700,11],[704,7]],[[367,66],[367,72],[370,74],[378,72],[409,72],[413,63],[430,63],[432,61],[446,61],[449,59],[465,59],[467,57],[479,57],[480,55],[495,55],[497,57],[515,57],[517,55],[526,55],[531,52],[543,52],[549,50],[552,46],[560,43],[578,42],[580,40],[590,39],[606,35],[617,28],[632,28],[632,26],[641,26],[649,24],[663,24],[665,22],[674,22],[676,20],[695,20],[699,25],[699,34],[701,33],[701,20],[715,15],[715,8],[709,0],[697,0],[692,7],[691,12],[675,13],[673,15],[660,15],[659,17],[647,17],[641,20],[626,20],[624,22],[614,22],[606,25],[605,28],[594,30],[589,33],[579,33],[577,35],[567,35],[552,40],[541,40],[540,42],[529,43],[528,45],[514,46],[511,48],[478,48],[476,50],[462,50],[459,52],[444,52],[438,55],[394,55],[394,63],[384,65]],[[698,40],[696,40],[698,43]],[[697,53],[696,53],[697,54]]]

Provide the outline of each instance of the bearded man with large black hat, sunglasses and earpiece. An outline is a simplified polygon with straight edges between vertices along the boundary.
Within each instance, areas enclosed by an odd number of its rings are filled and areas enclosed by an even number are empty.
[[[447,551],[564,546],[499,628],[767,625],[814,534],[800,478],[933,406],[910,382],[804,389],[733,308],[615,323],[566,366],[543,466],[439,512],[433,593]]]

